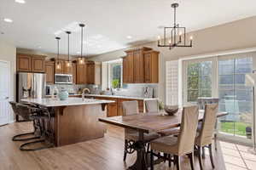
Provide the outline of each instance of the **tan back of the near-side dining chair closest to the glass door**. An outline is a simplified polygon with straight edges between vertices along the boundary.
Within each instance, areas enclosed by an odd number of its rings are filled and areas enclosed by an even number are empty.
[[[204,146],[212,144],[212,135],[217,120],[218,104],[207,104],[205,106],[205,114],[202,122],[201,132],[197,139],[197,144]]]

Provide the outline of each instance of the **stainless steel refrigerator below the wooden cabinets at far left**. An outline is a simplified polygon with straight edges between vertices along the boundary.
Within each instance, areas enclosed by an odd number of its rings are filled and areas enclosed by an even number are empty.
[[[44,73],[18,72],[17,73],[16,101],[21,99],[44,98],[46,76]],[[20,117],[16,117],[20,121]]]

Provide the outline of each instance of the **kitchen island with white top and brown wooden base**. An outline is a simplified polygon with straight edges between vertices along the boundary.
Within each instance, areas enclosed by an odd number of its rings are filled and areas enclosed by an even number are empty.
[[[102,138],[106,127],[98,121],[98,118],[106,117],[106,105],[114,102],[82,98],[22,99],[22,101],[45,107],[51,113],[51,120],[46,124],[53,133],[54,139],[50,141],[54,142],[55,146]]]

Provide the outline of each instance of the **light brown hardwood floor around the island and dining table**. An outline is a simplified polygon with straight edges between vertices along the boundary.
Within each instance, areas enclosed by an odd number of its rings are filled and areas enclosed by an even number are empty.
[[[17,133],[31,131],[29,122],[15,122],[0,127],[0,169],[1,170],[122,170],[129,167],[136,158],[135,153],[128,155],[127,166],[123,161],[124,129],[108,126],[108,133],[102,139],[95,139],[79,144],[70,144],[58,148],[37,151],[20,151],[22,142],[11,139]],[[207,150],[206,150],[207,152]],[[222,151],[214,151],[214,161],[218,170],[224,170]],[[207,156],[204,169],[212,169]],[[155,169],[168,170],[167,162],[155,166]],[[189,159],[183,158],[182,169],[190,169]],[[195,169],[200,169],[195,157]]]

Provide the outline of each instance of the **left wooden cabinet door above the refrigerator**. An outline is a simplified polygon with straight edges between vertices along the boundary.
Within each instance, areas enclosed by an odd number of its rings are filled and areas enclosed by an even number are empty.
[[[17,71],[32,71],[31,68],[32,58],[26,54],[17,55]]]

